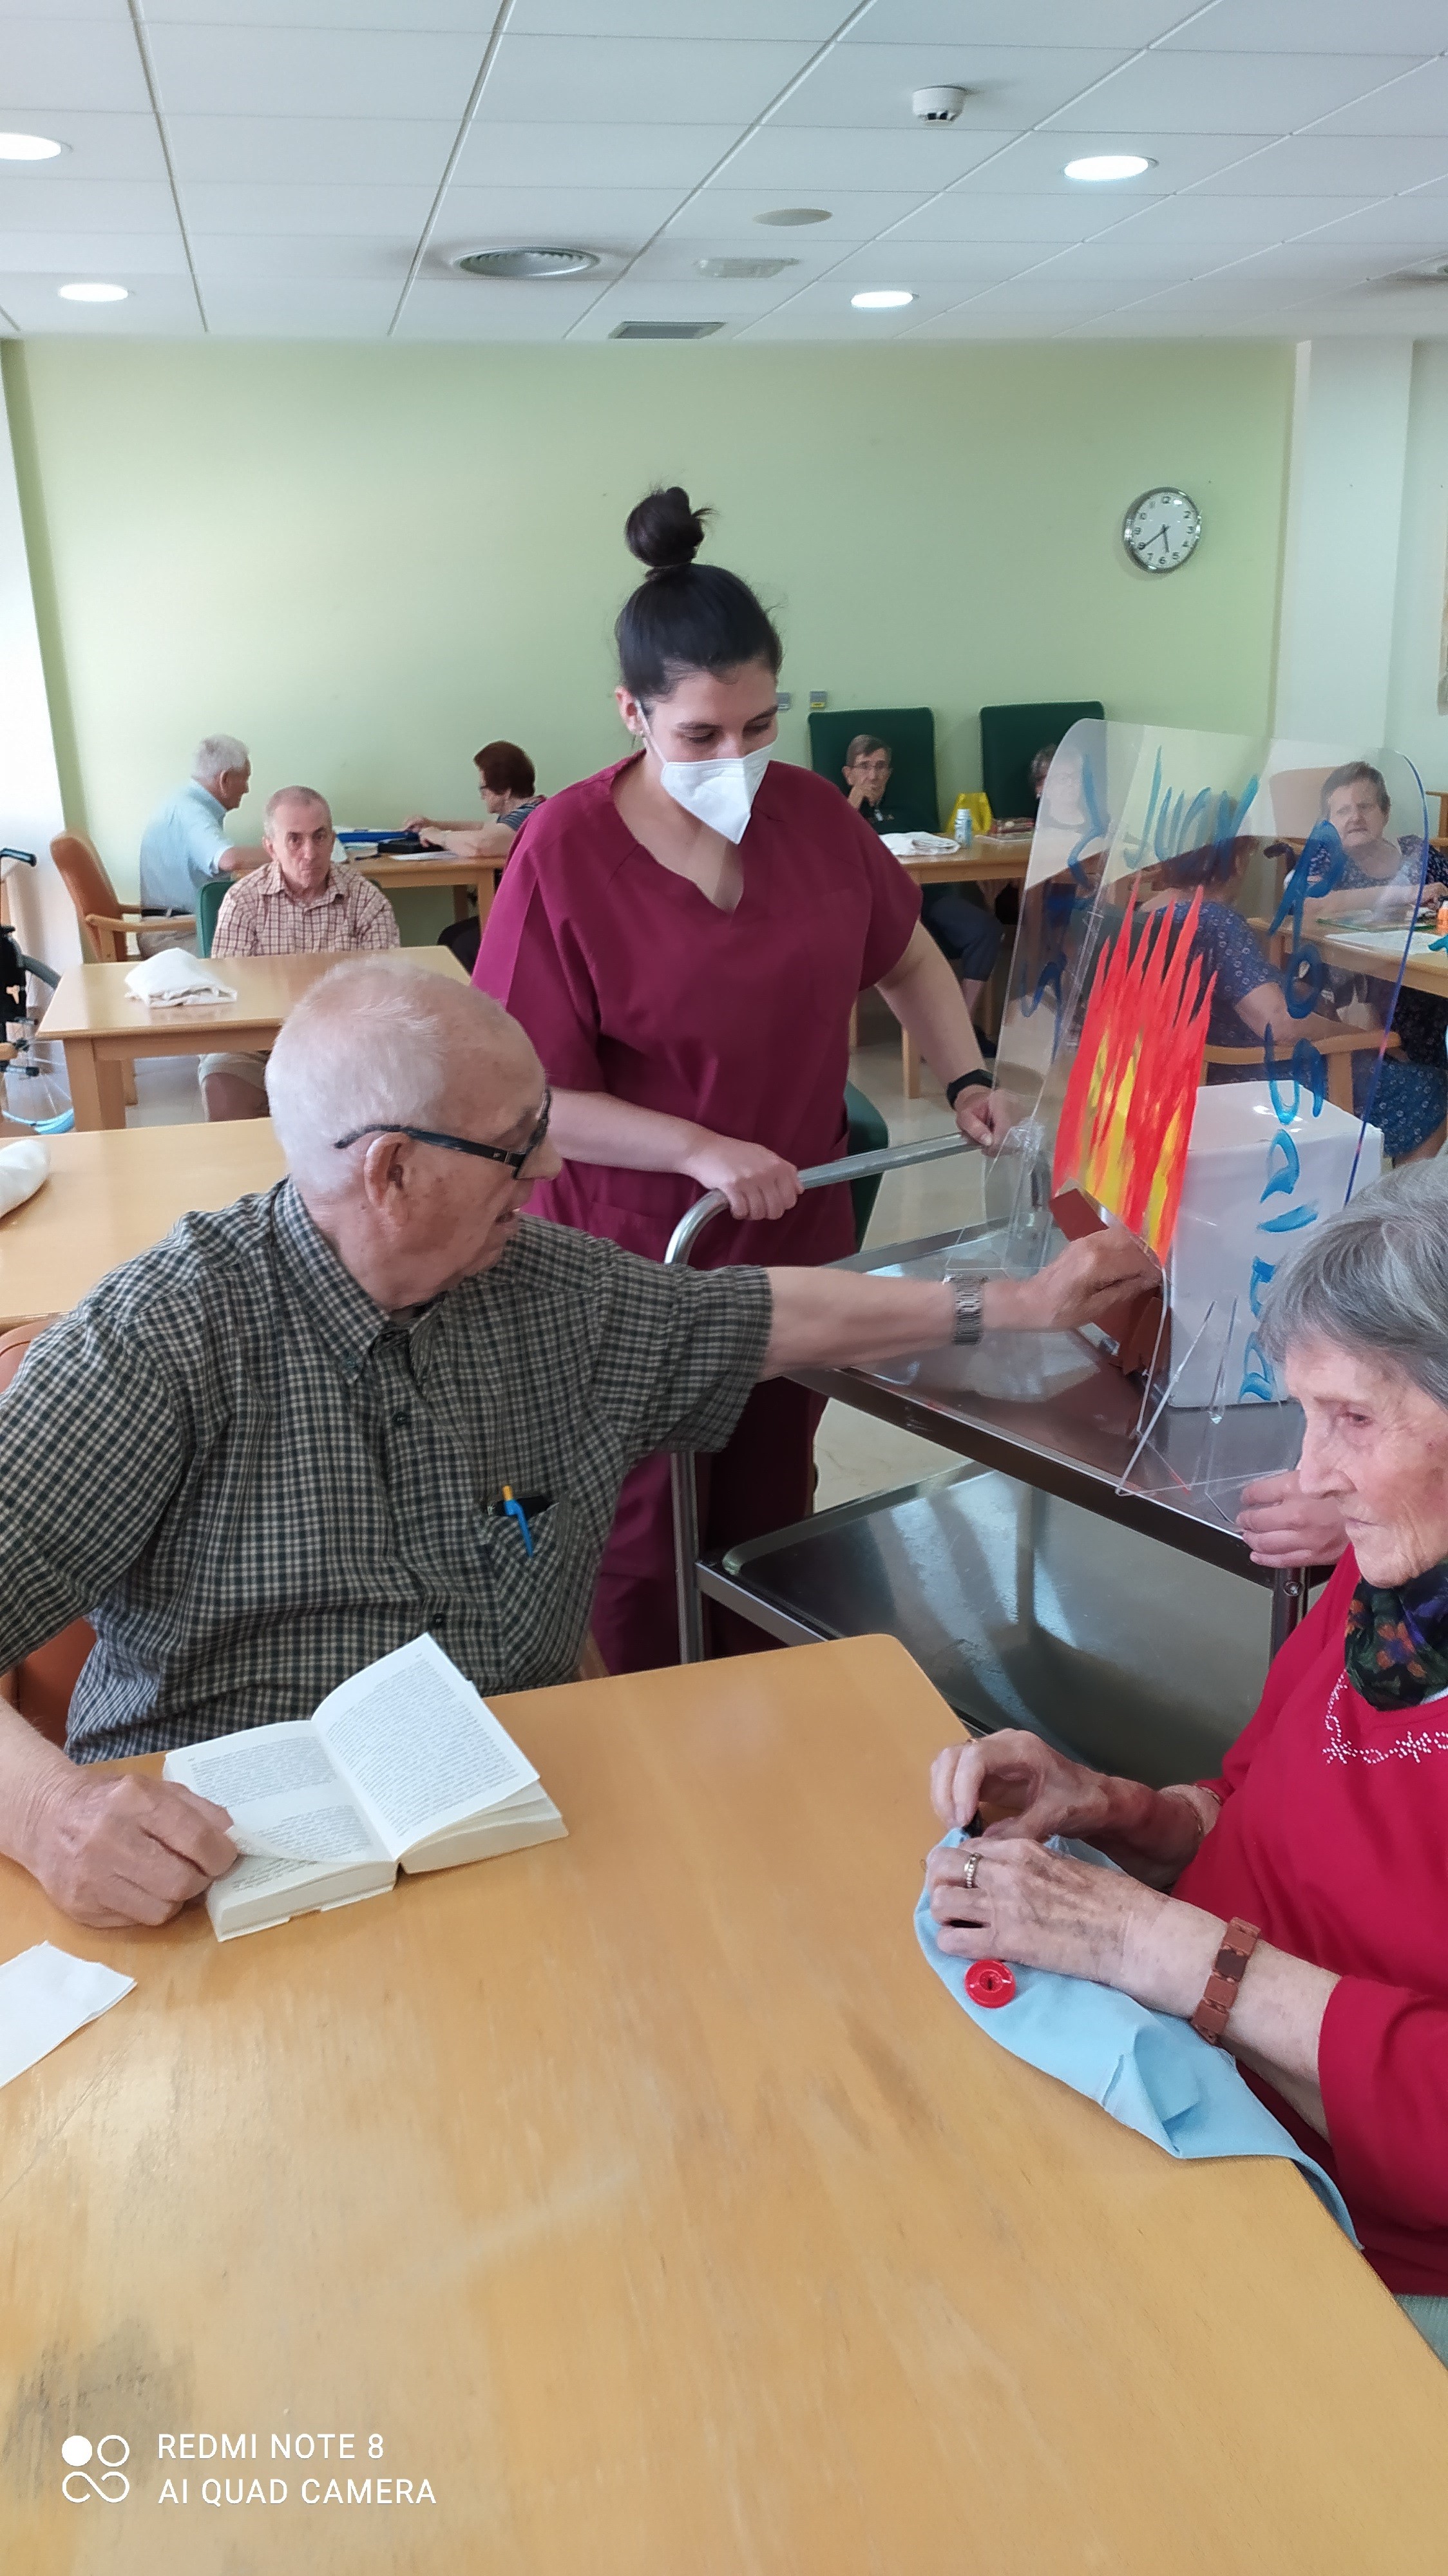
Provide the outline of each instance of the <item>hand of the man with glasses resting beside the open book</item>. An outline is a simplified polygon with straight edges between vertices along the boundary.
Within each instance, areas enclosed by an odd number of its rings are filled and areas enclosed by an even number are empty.
[[[77,1924],[165,1924],[232,1868],[229,1821],[178,1780],[93,1777],[80,1765],[46,1783],[18,1857]]]

